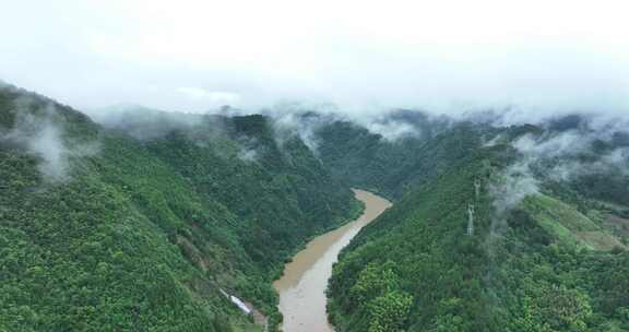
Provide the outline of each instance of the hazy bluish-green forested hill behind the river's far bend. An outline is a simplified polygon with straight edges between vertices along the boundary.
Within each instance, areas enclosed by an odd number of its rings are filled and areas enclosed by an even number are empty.
[[[490,133],[472,123],[415,120],[418,134],[394,141],[347,121],[321,127],[317,131],[321,161],[340,180],[400,199],[478,146],[479,131]],[[453,128],[447,130],[448,126]]]

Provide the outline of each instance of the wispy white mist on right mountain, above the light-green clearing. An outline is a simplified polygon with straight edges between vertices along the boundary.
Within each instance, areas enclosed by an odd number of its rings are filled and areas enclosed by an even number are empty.
[[[580,119],[562,128],[566,130],[554,130],[557,122],[545,122],[544,133],[524,134],[510,143],[519,157],[492,188],[499,214],[538,193],[543,180],[570,182],[595,174],[629,176],[629,142],[617,142],[619,135],[627,135],[629,127],[610,118]],[[499,135],[495,140],[501,139]]]

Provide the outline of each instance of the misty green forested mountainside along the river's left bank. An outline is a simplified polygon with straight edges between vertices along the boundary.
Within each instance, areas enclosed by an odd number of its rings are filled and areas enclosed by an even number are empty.
[[[283,260],[358,206],[271,131],[201,117],[139,138],[0,88],[0,331],[262,329],[219,288],[274,329]]]

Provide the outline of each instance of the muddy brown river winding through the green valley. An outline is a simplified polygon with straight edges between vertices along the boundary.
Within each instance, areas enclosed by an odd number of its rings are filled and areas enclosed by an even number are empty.
[[[280,293],[280,311],[284,332],[332,332],[325,313],[325,288],[332,264],[363,226],[391,206],[388,200],[363,190],[354,190],[365,203],[365,212],[356,221],[312,239],[284,268],[284,276],[273,286]]]

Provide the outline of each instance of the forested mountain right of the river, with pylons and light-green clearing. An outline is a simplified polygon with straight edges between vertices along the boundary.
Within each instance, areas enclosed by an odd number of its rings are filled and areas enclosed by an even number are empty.
[[[619,137],[459,123],[415,142],[427,147],[413,158],[434,168],[397,185],[355,167],[356,154],[339,155],[348,173],[364,171],[354,181],[402,194],[334,266],[337,331],[627,330],[629,168]],[[356,138],[383,149],[376,155],[395,149]]]

